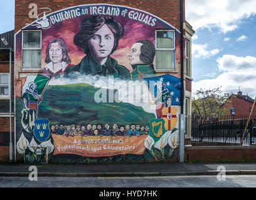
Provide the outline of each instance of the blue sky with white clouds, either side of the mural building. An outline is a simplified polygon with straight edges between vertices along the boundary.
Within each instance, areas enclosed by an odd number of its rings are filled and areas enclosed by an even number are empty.
[[[0,33],[14,29],[14,0],[0,0]],[[256,96],[256,1],[186,0],[186,21],[196,31],[192,41],[192,95],[220,87],[238,87]]]

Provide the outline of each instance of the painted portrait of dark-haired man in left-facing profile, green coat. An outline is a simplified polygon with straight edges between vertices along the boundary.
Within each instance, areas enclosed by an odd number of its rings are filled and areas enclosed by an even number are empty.
[[[131,51],[127,54],[129,62],[132,66],[131,79],[140,79],[143,77],[152,77],[154,71],[154,56],[156,55],[156,47],[149,40],[140,40],[135,42]]]

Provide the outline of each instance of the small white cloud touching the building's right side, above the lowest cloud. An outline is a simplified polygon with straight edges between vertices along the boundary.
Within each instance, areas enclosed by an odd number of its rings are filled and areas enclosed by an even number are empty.
[[[195,58],[210,58],[220,52],[219,49],[212,49],[211,51],[206,50],[208,44],[192,44],[192,54]]]

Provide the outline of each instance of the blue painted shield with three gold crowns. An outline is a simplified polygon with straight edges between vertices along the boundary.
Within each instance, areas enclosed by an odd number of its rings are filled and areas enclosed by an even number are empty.
[[[50,136],[49,121],[48,119],[36,119],[34,135],[40,142],[46,141]]]

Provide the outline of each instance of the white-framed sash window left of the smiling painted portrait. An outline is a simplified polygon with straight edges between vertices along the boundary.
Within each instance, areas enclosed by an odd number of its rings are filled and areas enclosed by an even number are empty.
[[[22,68],[41,69],[41,31],[23,31]]]

